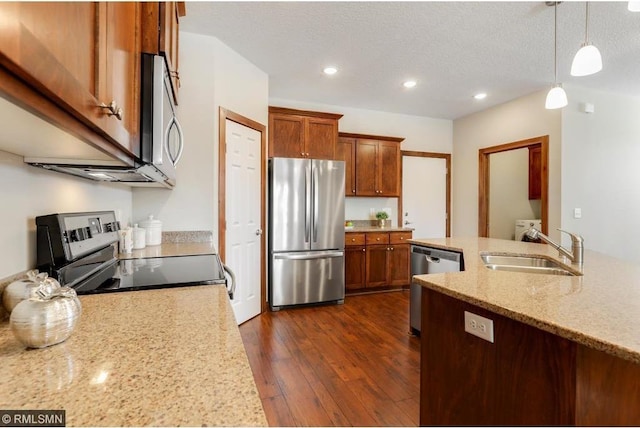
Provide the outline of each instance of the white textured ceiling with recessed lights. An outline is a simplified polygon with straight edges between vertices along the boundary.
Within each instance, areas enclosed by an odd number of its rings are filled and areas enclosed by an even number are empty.
[[[603,70],[569,74],[585,3],[558,6],[558,80],[640,96],[640,13],[590,2]],[[544,2],[187,2],[182,31],[215,36],[269,75],[269,96],[456,119],[553,83]],[[339,68],[325,76],[326,65]],[[406,79],[418,85],[407,90]],[[483,101],[472,98],[487,92]]]

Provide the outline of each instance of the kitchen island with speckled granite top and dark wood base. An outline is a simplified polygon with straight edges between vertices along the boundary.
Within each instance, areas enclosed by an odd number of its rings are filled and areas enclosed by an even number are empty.
[[[412,240],[460,251],[465,271],[423,286],[422,425],[640,424],[640,266],[585,251],[579,276],[487,269],[482,252],[548,245],[488,238]],[[493,322],[493,342],[464,312]]]

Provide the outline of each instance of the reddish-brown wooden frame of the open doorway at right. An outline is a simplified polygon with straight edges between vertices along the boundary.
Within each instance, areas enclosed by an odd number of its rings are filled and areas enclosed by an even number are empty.
[[[541,231],[548,233],[548,217],[549,217],[549,136],[530,138],[527,140],[515,141],[512,143],[501,144],[498,146],[480,149],[479,166],[478,166],[478,236],[489,237],[489,213],[490,213],[490,162],[489,156],[495,153],[508,152],[511,150],[528,149],[530,153],[537,152],[539,154],[539,166],[536,165],[533,174],[530,174],[531,180],[539,180],[539,198],[540,198],[540,220]],[[537,160],[538,161],[538,160]],[[536,162],[537,162],[536,161]],[[530,165],[530,168],[532,166]],[[537,185],[536,185],[537,186]]]

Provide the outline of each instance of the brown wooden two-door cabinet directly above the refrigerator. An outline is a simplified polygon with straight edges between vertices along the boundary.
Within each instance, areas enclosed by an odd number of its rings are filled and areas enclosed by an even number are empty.
[[[341,114],[269,107],[269,157],[336,159]]]

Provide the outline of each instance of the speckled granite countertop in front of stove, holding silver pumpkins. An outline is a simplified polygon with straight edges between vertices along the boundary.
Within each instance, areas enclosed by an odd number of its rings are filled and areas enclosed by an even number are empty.
[[[80,301],[76,330],[48,348],[0,323],[0,408],[64,409],[68,426],[267,425],[224,287]]]

